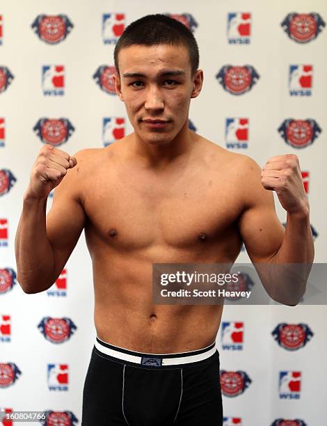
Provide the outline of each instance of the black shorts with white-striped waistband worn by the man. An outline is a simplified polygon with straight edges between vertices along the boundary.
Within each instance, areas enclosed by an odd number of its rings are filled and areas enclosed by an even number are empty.
[[[143,354],[97,338],[83,389],[82,426],[222,426],[219,354]]]

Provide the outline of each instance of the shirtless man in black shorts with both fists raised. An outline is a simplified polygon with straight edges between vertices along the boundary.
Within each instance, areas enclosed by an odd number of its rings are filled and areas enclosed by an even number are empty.
[[[134,22],[115,47],[115,65],[134,132],[74,157],[41,148],[16,235],[17,278],[26,293],[47,290],[85,229],[97,340],[83,426],[219,426],[222,306],[154,305],[152,264],[232,263],[242,242],[253,262],[312,263],[298,159],[273,157],[261,171],[189,131],[203,72],[196,40],[180,22],[163,15]],[[287,210],[286,232],[272,190]],[[276,294],[278,283],[264,285]],[[294,287],[292,300],[278,301],[295,305],[304,291]]]

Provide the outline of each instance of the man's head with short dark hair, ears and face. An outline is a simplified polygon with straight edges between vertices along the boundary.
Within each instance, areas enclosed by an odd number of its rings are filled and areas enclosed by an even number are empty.
[[[127,26],[114,57],[115,88],[136,134],[169,143],[187,126],[190,100],[202,87],[193,34],[173,18],[147,15]]]

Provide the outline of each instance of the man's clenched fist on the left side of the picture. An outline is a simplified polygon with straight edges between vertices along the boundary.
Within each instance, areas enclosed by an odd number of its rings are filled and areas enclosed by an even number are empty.
[[[77,165],[77,159],[52,145],[44,145],[33,165],[29,187],[25,196],[47,198],[49,193],[60,184],[68,168]]]

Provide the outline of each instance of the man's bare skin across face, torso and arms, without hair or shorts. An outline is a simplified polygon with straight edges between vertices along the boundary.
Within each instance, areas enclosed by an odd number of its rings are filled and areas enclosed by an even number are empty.
[[[200,93],[203,72],[191,74],[183,46],[124,48],[119,71],[115,87],[134,132],[75,157],[43,148],[17,231],[19,283],[26,292],[54,283],[84,228],[93,262],[97,336],[139,352],[196,350],[216,339],[223,306],[154,305],[152,263],[230,263],[242,241],[253,262],[310,262],[308,200],[298,159],[273,157],[261,170],[249,157],[189,131],[189,104]],[[163,75],[168,71],[178,75]],[[167,123],[151,127],[147,119]],[[39,163],[45,166],[46,161],[45,176]],[[51,170],[62,175],[51,180]],[[53,254],[39,266],[40,276],[47,279],[38,289],[31,287],[37,255],[24,258],[23,250],[24,235],[35,218],[40,223],[46,202],[35,175],[43,176],[44,185],[60,182],[46,228],[34,234],[42,258]],[[288,212],[286,232],[276,216],[272,190]],[[298,239],[305,248],[294,250]],[[37,272],[33,274],[35,280]]]

